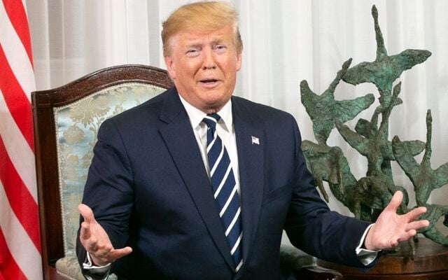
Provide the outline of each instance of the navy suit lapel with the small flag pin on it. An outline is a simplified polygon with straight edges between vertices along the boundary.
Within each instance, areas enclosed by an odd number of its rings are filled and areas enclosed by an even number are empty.
[[[243,260],[247,260],[258,228],[263,195],[265,176],[263,130],[253,111],[244,108],[244,104],[237,97],[232,97],[232,112],[241,189]]]

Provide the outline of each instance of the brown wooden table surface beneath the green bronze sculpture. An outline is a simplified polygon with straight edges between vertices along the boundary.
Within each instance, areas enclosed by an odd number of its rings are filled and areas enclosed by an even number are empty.
[[[448,279],[448,246],[419,238],[415,244],[415,258],[409,258],[409,245],[400,244],[396,253],[383,254],[377,264],[368,272],[360,272],[353,267],[337,265],[332,262],[318,260],[318,265],[335,269],[344,275],[344,279],[388,279],[388,280],[447,280]]]

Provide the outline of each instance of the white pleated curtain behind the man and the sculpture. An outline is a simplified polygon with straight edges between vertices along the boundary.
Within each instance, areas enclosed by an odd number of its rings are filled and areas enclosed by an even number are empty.
[[[117,64],[151,64],[165,68],[160,42],[161,22],[186,0],[32,0],[27,1],[34,52],[36,87],[45,90],[97,69]],[[433,55],[405,71],[400,80],[403,100],[391,116],[390,134],[426,140],[426,110],[433,114],[433,168],[448,162],[448,1],[443,0],[235,0],[244,41],[243,66],[235,94],[292,113],[303,139],[314,140],[311,121],[300,103],[299,83],[308,80],[323,92],[342,63],[352,66],[376,55],[372,5],[389,55],[407,48]],[[336,99],[379,94],[368,84],[343,82]],[[375,106],[377,102],[373,105]],[[361,114],[370,119],[372,109]],[[352,127],[356,121],[351,121]],[[344,148],[353,174],[365,176],[366,161],[347,146],[337,131],[329,143]],[[420,157],[421,158],[421,157]],[[393,165],[396,183],[412,185]],[[330,193],[330,190],[328,190]],[[433,192],[433,203],[448,204],[448,188]],[[330,197],[330,207],[349,211]]]

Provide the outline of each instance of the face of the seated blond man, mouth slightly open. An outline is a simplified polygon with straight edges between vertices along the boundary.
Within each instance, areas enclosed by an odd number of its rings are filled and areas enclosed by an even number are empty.
[[[209,34],[181,31],[169,46],[165,64],[181,97],[205,113],[219,111],[230,99],[241,67],[232,27]]]

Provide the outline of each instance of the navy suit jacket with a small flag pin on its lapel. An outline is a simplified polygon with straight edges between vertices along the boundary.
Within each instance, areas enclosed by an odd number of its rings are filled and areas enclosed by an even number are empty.
[[[368,223],[332,212],[321,200],[293,116],[231,100],[244,265],[235,275],[197,141],[172,88],[99,130],[83,203],[115,248],[133,248],[112,272],[123,279],[279,279],[283,229],[303,251],[362,267],[355,248]],[[79,241],[77,253],[84,262]]]

